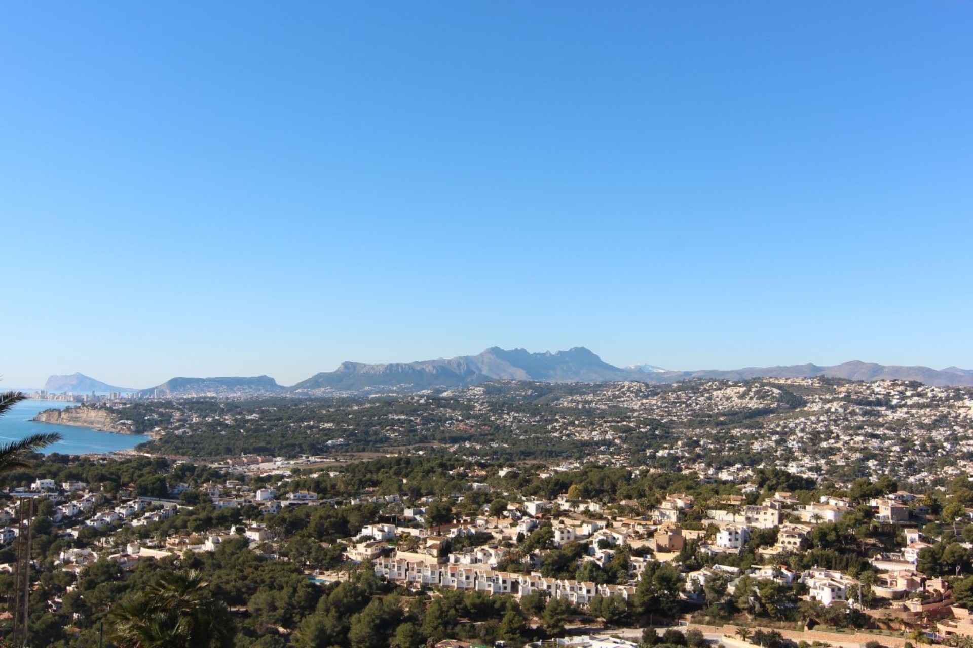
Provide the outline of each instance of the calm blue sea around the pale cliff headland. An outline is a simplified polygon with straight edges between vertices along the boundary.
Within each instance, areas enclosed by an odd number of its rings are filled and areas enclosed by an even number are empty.
[[[45,455],[89,455],[111,453],[117,450],[131,450],[139,443],[151,441],[144,434],[116,434],[102,432],[89,427],[60,426],[55,423],[31,421],[38,412],[56,407],[63,409],[74,403],[56,400],[23,400],[18,402],[3,416],[0,416],[0,444],[19,441],[38,432],[60,432],[63,440],[52,443],[41,450]]]

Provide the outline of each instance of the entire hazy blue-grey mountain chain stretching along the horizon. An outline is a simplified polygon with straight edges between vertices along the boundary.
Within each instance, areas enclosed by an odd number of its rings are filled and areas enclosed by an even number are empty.
[[[364,364],[342,362],[335,371],[315,374],[293,387],[278,385],[269,376],[226,378],[173,378],[162,385],[137,392],[139,397],[327,395],[382,391],[417,392],[428,389],[470,387],[494,380],[549,383],[604,383],[642,381],[674,383],[702,378],[748,380],[751,378],[844,378],[847,380],[906,380],[934,387],[973,387],[973,369],[955,366],[937,370],[924,366],[883,365],[857,360],[833,366],[793,364],[742,369],[670,371],[651,364],[617,367],[584,347],[556,353],[530,353],[523,349],[491,347],[476,356],[450,359]],[[49,392],[133,392],[112,387],[83,374],[52,376]]]

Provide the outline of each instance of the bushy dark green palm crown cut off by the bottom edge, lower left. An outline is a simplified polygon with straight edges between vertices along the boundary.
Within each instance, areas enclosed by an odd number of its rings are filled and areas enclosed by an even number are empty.
[[[162,573],[109,615],[121,648],[211,648],[233,643],[226,604],[213,598],[196,569]]]

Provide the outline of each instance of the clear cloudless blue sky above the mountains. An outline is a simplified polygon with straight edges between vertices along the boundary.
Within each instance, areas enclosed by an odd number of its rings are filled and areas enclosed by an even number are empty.
[[[973,3],[0,7],[0,374],[973,367]]]

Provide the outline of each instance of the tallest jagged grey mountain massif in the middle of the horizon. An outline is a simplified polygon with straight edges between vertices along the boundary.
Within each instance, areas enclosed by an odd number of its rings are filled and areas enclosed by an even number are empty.
[[[292,389],[340,392],[375,388],[423,390],[468,387],[490,380],[534,380],[549,383],[634,380],[636,373],[608,364],[584,347],[532,354],[523,349],[491,347],[477,356],[362,364],[342,362],[337,370],[315,374]]]

